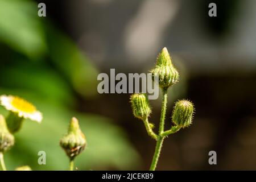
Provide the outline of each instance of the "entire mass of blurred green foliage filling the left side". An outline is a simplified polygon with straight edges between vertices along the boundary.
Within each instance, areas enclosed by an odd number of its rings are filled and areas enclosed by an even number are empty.
[[[42,123],[25,121],[15,134],[14,147],[5,154],[7,168],[68,169],[59,139],[73,116],[88,142],[76,159],[80,170],[136,168],[138,154],[120,127],[109,118],[73,109],[76,94],[96,95],[98,71],[71,39],[50,21],[43,22],[35,9],[32,1],[0,0],[0,94],[23,97],[43,113]],[[8,114],[3,107],[0,113]],[[38,164],[39,151],[46,151],[46,165]]]

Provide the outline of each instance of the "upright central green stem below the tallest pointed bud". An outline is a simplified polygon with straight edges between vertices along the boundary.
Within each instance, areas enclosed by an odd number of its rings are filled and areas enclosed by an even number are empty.
[[[166,118],[166,107],[167,107],[167,89],[163,89],[162,109],[161,109],[161,116],[160,116],[160,123],[159,123],[159,135],[158,135],[158,140],[156,142],[155,153],[150,166],[150,171],[155,171],[156,164],[158,163],[160,152],[162,150],[164,137],[162,137],[161,134],[164,131],[164,119]]]

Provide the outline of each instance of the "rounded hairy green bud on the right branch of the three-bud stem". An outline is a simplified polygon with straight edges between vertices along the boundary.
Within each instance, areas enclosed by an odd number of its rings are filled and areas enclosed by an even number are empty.
[[[194,113],[194,105],[187,100],[177,101],[172,113],[172,122],[176,126],[187,127],[191,125]]]

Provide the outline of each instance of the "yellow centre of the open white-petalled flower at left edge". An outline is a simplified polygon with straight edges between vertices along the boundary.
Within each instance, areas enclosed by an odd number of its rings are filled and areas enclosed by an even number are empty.
[[[13,97],[11,105],[13,105],[16,109],[26,113],[34,113],[36,111],[36,107],[34,105],[19,97]]]

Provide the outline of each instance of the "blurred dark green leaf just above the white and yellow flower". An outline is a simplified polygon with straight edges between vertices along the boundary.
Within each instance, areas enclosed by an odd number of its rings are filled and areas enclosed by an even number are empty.
[[[0,68],[0,84],[5,88],[26,89],[37,93],[44,100],[72,105],[72,90],[52,68],[22,59]]]

